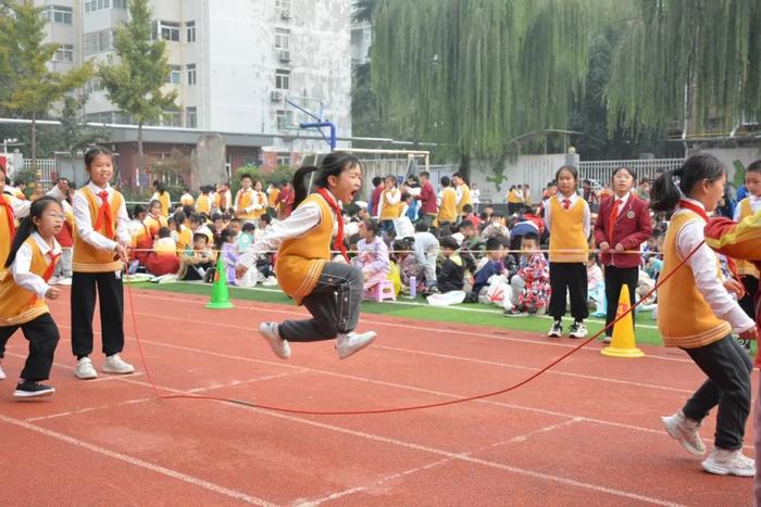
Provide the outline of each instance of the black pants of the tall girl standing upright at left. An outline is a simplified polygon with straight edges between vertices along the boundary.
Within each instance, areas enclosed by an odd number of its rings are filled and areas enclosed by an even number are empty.
[[[124,348],[124,288],[121,274],[74,272],[72,277],[72,352],[77,359],[92,353],[92,316],[96,288],[100,299],[103,354]]]

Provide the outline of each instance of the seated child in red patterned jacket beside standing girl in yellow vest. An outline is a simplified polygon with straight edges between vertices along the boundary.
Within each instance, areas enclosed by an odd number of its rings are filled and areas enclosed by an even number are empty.
[[[539,252],[539,236],[526,233],[521,240],[521,267],[510,281],[512,301],[506,300],[506,317],[542,313],[550,301],[550,267]],[[510,305],[510,308],[507,306]]]

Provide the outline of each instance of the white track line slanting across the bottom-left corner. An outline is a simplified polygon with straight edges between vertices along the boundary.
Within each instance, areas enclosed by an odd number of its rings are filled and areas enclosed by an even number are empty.
[[[34,431],[35,433],[39,433],[42,435],[46,435],[48,438],[58,440],[59,442],[64,442],[70,445],[74,445],[75,447],[80,447],[87,451],[90,451],[91,453],[97,453],[102,456],[107,456],[112,459],[116,459],[126,464],[129,464],[134,467],[142,468],[144,470],[149,470],[162,476],[166,476],[172,479],[176,479],[178,481],[185,482],[187,484],[191,484],[197,487],[201,487],[203,490],[226,496],[232,499],[245,502],[247,504],[251,505],[262,505],[262,506],[274,506],[275,504],[272,504],[270,502],[266,502],[262,498],[258,498],[255,496],[251,496],[247,493],[236,491],[236,490],[230,490],[229,487],[221,486],[219,484],[214,484],[213,482],[204,481],[203,479],[199,479],[194,476],[189,476],[187,473],[179,472],[177,470],[172,470],[171,468],[162,467],[160,465],[155,465],[149,461],[145,461],[142,459],[135,458],[133,456],[128,456],[126,454],[117,453],[115,451],[111,451],[105,447],[101,447],[100,445],[96,445],[89,442],[85,442],[84,440],[75,439],[73,436],[59,433],[58,431],[52,431],[47,428],[33,424],[30,422],[26,422],[20,419],[15,419],[13,417],[8,417],[2,414],[0,414],[0,421],[7,422],[9,424],[13,424],[20,428],[24,428],[29,431]]]

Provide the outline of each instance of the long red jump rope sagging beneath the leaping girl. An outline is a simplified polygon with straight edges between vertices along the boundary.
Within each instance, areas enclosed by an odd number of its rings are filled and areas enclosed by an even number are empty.
[[[549,365],[545,366],[540,370],[529,375],[525,379],[513,383],[507,388],[500,389],[498,391],[491,391],[488,393],[483,393],[483,394],[476,394],[473,396],[464,396],[464,397],[457,397],[453,400],[448,400],[446,402],[437,402],[437,403],[427,403],[427,404],[420,404],[420,405],[407,405],[407,406],[401,406],[401,407],[390,407],[390,408],[367,408],[367,409],[360,409],[360,410],[311,410],[311,409],[299,409],[299,408],[289,408],[289,407],[280,407],[280,406],[275,406],[275,405],[264,405],[260,403],[253,403],[253,402],[247,402],[244,400],[235,400],[235,398],[227,398],[227,397],[222,397],[222,396],[211,396],[211,395],[203,395],[203,394],[162,394],[159,392],[159,388],[157,386],[155,382],[153,381],[153,376],[151,375],[150,369],[148,368],[148,362],[146,360],[146,354],[142,350],[142,343],[140,341],[140,335],[137,329],[137,318],[135,317],[135,304],[133,302],[133,292],[132,292],[132,287],[129,283],[127,283],[127,297],[129,300],[129,313],[132,317],[132,324],[133,324],[133,332],[135,333],[135,340],[137,342],[137,348],[140,354],[140,362],[142,363],[142,368],[146,371],[146,377],[148,378],[148,382],[151,384],[151,389],[153,390],[153,393],[155,394],[155,397],[159,400],[209,400],[209,401],[214,401],[214,402],[223,402],[223,403],[233,403],[235,405],[242,405],[245,407],[250,407],[250,408],[259,408],[263,410],[270,410],[270,411],[277,411],[277,413],[283,413],[283,414],[298,414],[298,415],[309,415],[309,416],[360,416],[360,415],[372,415],[372,414],[394,414],[394,413],[402,413],[402,411],[413,411],[413,410],[424,410],[424,409],[429,409],[429,408],[436,408],[436,407],[444,407],[448,405],[458,405],[461,403],[466,403],[466,402],[473,402],[476,400],[485,400],[489,397],[497,396],[499,394],[504,394],[509,393],[510,391],[514,391],[528,382],[533,381],[540,375],[545,373],[556,365],[562,363],[565,360],[567,357],[571,355],[575,354],[579,350],[582,350],[584,346],[589,344],[590,342],[597,340],[604,331],[610,329],[612,326],[615,325],[619,320],[623,319],[628,315],[629,313],[634,312],[634,309],[639,306],[644,301],[646,301],[650,295],[652,295],[656,290],[661,287],[663,283],[665,283],[682,266],[687,263],[687,261],[690,259],[693,255],[704,244],[704,241],[701,241],[690,253],[687,255],[679,264],[676,265],[674,269],[672,269],[670,272],[665,275],[661,275],[661,277],[658,280],[658,283],[650,290],[647,294],[645,294],[644,297],[641,297],[637,303],[632,305],[626,312],[621,314],[620,316],[616,316],[616,318],[610,322],[608,326],[602,328],[600,331],[591,335],[590,338],[579,342],[578,345],[574,346],[571,348],[569,352],[563,354],[562,356],[558,357],[553,362],[551,362]],[[620,252],[616,252],[620,253]]]

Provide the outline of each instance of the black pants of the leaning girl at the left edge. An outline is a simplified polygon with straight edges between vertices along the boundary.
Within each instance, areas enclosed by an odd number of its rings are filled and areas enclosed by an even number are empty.
[[[16,330],[21,328],[24,338],[29,341],[29,355],[21,372],[24,380],[46,380],[50,378],[50,368],[53,366],[53,354],[60,334],[58,326],[50,314],[42,314],[28,322],[16,326],[0,327],[0,358],[5,355],[5,343]]]

